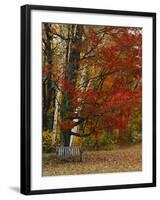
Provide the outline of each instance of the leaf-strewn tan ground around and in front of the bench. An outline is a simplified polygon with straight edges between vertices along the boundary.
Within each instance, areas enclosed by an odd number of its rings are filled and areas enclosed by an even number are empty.
[[[110,151],[85,151],[83,161],[55,161],[43,154],[43,176],[78,175],[142,170],[142,146],[132,145]]]

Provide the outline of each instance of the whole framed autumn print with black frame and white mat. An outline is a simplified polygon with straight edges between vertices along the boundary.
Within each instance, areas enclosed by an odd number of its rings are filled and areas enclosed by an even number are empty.
[[[156,186],[156,14],[21,7],[21,193]]]

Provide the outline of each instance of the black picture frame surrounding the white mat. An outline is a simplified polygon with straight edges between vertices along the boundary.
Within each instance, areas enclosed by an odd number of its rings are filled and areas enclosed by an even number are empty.
[[[152,182],[110,185],[110,186],[92,186],[78,188],[60,188],[47,190],[31,190],[31,11],[64,11],[93,14],[111,14],[124,16],[151,17],[152,27],[152,56],[153,56],[153,149],[152,149]],[[96,184],[96,183],[95,183]],[[144,188],[156,186],[156,13],[121,11],[121,10],[102,10],[89,8],[72,7],[54,7],[44,5],[24,5],[21,6],[21,193],[25,195],[81,192],[94,190],[112,190],[127,188]],[[54,187],[54,186],[53,186]]]

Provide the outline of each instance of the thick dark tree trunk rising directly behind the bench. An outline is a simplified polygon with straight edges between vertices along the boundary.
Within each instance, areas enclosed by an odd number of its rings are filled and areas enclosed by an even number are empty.
[[[80,60],[80,47],[82,44],[82,25],[69,25],[68,28],[68,45],[67,45],[67,55],[66,58],[66,73],[65,78],[68,79],[73,86],[76,86],[77,82],[77,71],[79,69],[79,60]],[[61,120],[62,123],[66,119],[68,113],[73,113],[73,107],[71,103],[71,94],[69,91],[65,90],[65,94],[62,96],[62,105],[61,105]],[[61,130],[60,134],[60,143],[62,146],[69,146],[71,139],[71,130]]]

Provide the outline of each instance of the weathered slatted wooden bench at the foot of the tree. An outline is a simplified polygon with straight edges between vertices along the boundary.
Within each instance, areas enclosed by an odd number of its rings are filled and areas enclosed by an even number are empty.
[[[82,147],[81,146],[71,146],[71,147],[56,147],[56,157],[58,160],[69,160],[71,158],[79,158],[78,160],[82,162]]]

